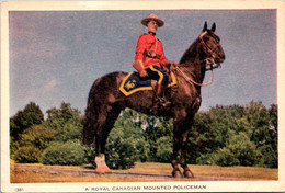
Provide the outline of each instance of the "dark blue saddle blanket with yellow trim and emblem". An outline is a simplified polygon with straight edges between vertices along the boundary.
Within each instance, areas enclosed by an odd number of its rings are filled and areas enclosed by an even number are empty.
[[[168,84],[168,87],[176,84],[176,77],[172,72],[170,75],[171,82]],[[141,79],[139,73],[136,71],[128,73],[119,86],[119,91],[123,92],[126,96],[141,90],[153,90],[153,88],[151,87],[150,79]]]

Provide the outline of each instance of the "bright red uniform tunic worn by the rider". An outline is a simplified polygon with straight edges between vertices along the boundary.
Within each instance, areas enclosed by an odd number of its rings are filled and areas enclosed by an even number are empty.
[[[160,67],[160,65],[168,63],[164,57],[162,43],[151,34],[139,35],[135,60],[142,60],[145,69],[151,65]]]

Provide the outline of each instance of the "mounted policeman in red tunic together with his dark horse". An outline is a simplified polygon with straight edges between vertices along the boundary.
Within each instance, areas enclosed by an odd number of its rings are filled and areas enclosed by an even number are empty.
[[[137,41],[134,67],[138,72],[114,71],[98,78],[92,84],[86,111],[83,128],[83,144],[95,141],[95,172],[111,172],[105,162],[105,145],[121,111],[129,107],[137,112],[173,118],[173,154],[171,159],[172,175],[174,178],[194,178],[187,167],[189,134],[194,122],[194,115],[202,102],[201,87],[207,69],[213,72],[225,60],[225,53],[220,38],[215,34],[216,24],[210,29],[205,22],[202,33],[196,41],[184,52],[180,63],[172,63],[170,70],[170,94],[163,100],[163,89],[168,76],[161,69],[171,64],[163,54],[161,42],[156,37],[158,27],[163,26],[163,21],[150,14],[141,20],[148,27],[148,34],[141,34]],[[139,73],[139,75],[138,75]],[[140,76],[140,77],[139,77]],[[140,79],[147,79],[140,81]],[[148,78],[147,78],[148,77]],[[155,79],[158,86],[151,87]],[[153,110],[155,105],[158,111]],[[193,136],[192,136],[193,137]],[[181,172],[181,169],[183,172]]]

